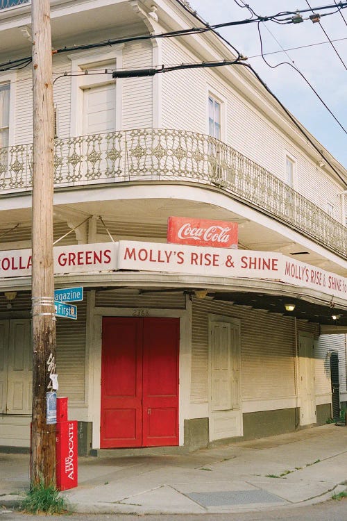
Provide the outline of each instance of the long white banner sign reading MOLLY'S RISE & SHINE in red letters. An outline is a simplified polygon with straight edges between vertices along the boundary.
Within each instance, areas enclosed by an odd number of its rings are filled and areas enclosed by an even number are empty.
[[[101,242],[54,248],[54,273],[138,270],[268,279],[347,299],[347,279],[273,251],[160,244]],[[31,275],[31,250],[0,252],[0,279]]]

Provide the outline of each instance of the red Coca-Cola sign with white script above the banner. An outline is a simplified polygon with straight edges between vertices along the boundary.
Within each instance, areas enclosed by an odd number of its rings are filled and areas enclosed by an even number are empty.
[[[237,223],[169,217],[167,242],[217,248],[237,248]]]

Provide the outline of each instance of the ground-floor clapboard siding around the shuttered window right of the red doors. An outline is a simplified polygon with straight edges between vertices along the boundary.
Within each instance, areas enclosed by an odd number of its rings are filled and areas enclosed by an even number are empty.
[[[193,403],[208,402],[208,313],[241,320],[242,399],[295,395],[294,320],[228,303],[194,300],[192,326]]]

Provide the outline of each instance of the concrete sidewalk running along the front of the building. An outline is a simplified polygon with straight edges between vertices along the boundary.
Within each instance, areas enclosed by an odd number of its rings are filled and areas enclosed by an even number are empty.
[[[187,454],[79,458],[74,511],[218,513],[323,501],[347,484],[347,428],[335,424]],[[110,452],[108,452],[110,454]],[[28,488],[29,458],[0,454],[0,505]]]

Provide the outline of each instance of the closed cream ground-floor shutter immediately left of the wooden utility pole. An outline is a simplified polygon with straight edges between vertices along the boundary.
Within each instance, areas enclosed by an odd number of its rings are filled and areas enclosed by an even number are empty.
[[[7,399],[9,414],[31,414],[32,367],[31,322],[25,318],[10,320]]]

